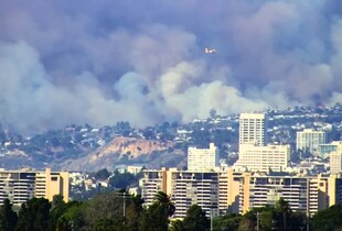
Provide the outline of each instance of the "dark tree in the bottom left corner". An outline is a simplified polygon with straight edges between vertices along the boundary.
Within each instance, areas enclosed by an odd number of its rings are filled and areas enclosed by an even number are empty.
[[[3,205],[0,208],[0,230],[13,231],[18,221],[18,216],[12,209],[12,205],[9,199],[3,200]]]

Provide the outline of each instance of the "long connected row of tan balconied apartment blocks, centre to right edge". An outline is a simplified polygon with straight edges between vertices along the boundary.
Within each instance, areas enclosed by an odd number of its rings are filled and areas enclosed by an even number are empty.
[[[227,167],[211,172],[162,168],[143,170],[140,186],[146,205],[153,202],[159,190],[170,195],[175,205],[174,218],[184,218],[192,205],[201,206],[207,216],[217,216],[227,211],[245,213],[284,198],[291,210],[313,215],[342,202],[342,178],[338,175],[241,173]]]

